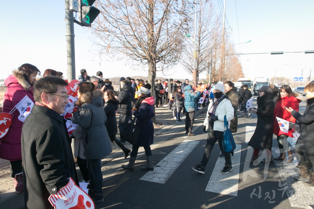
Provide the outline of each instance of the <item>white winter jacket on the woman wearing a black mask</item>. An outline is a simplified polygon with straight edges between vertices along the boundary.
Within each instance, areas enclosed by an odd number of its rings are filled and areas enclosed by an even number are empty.
[[[206,118],[203,123],[203,125],[206,126],[206,131],[208,131],[209,129],[208,111],[214,104],[213,100],[214,99],[209,100]],[[232,120],[232,118],[234,117],[234,109],[232,107],[230,100],[223,99],[219,103],[218,107],[216,108],[215,116],[218,117],[218,120],[214,121],[214,131],[225,131],[225,123],[224,123],[225,116],[227,118],[229,125],[230,125],[230,120]]]

